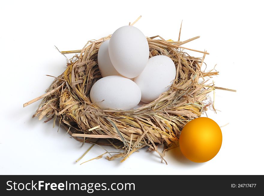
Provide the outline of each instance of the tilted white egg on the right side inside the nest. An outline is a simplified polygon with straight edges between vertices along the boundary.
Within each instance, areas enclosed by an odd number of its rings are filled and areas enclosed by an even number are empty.
[[[164,55],[149,58],[143,72],[134,78],[134,82],[141,90],[141,101],[150,103],[161,93],[170,89],[176,77],[176,68],[173,61]]]

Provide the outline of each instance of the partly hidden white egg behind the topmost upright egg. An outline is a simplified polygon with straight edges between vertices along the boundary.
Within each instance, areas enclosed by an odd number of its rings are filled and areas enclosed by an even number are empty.
[[[98,50],[98,67],[102,77],[106,76],[121,76],[113,66],[108,52],[109,40],[105,40]]]

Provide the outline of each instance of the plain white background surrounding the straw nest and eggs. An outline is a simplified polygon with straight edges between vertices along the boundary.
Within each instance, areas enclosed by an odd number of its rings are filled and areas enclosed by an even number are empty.
[[[263,170],[263,5],[261,1],[4,1],[0,7],[1,128],[0,174],[264,174]],[[60,50],[81,49],[91,39],[135,24],[146,36],[181,40],[207,50],[210,70],[217,64],[217,114],[208,117],[222,127],[222,147],[214,159],[193,163],[179,148],[166,153],[168,165],[146,148],[125,162],[102,158],[75,163],[91,144],[65,135],[64,128],[33,118],[44,94],[60,75],[66,59]],[[202,57],[200,53],[192,53]],[[114,150],[108,147],[108,150]],[[100,147],[80,161],[104,153]]]

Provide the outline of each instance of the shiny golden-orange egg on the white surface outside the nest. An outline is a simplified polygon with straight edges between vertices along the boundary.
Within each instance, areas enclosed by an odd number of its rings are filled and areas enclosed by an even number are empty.
[[[202,163],[211,160],[222,145],[222,132],[212,119],[199,117],[188,122],[179,138],[182,154],[189,160]]]

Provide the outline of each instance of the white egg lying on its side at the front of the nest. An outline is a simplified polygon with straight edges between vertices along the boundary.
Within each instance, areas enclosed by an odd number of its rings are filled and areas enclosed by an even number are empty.
[[[101,109],[131,110],[140,102],[141,91],[128,78],[107,76],[95,82],[90,98]]]

